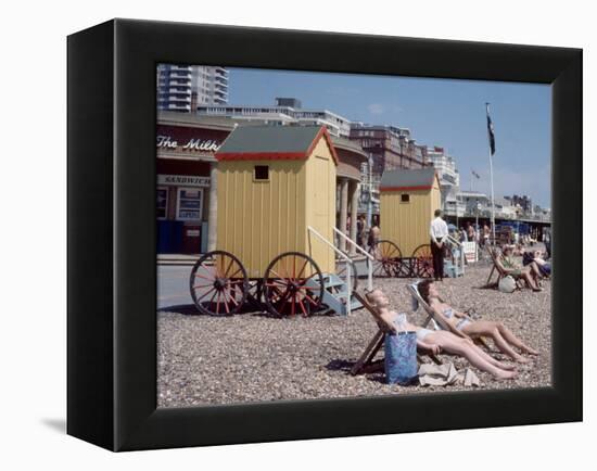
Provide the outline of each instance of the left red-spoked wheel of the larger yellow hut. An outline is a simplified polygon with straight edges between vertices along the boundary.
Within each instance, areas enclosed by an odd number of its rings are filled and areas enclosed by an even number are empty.
[[[228,316],[238,313],[246,300],[246,270],[232,254],[208,252],[191,270],[191,297],[200,313]]]

